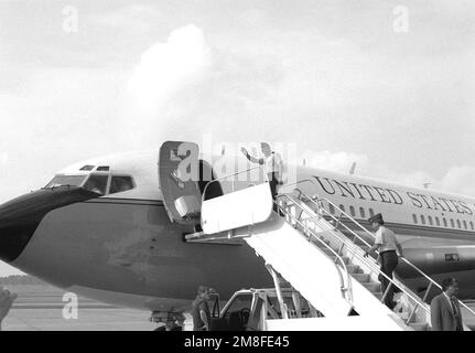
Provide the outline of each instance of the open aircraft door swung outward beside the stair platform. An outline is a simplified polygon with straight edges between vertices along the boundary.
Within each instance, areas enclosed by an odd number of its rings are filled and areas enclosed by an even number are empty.
[[[159,180],[172,222],[199,223],[199,148],[194,142],[166,141],[160,148]]]

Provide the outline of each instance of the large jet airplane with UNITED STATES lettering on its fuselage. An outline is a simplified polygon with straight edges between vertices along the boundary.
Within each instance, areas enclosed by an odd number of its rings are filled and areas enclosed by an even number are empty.
[[[0,259],[67,291],[164,315],[188,310],[199,285],[222,298],[273,287],[246,244],[185,240],[199,231],[201,200],[229,190],[223,165],[249,164],[244,156],[198,154],[198,180],[183,182],[175,173],[181,143],[75,163],[0,205]],[[209,176],[218,182],[203,196]],[[328,199],[365,227],[382,213],[407,259],[435,280],[456,277],[461,299],[475,297],[475,199],[304,165],[295,165],[295,178],[302,192]],[[397,274],[424,289],[410,269]]]

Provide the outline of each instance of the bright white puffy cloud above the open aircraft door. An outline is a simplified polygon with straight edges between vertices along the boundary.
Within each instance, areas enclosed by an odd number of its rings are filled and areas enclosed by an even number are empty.
[[[182,88],[198,82],[210,60],[201,29],[191,24],[174,30],[165,43],[156,42],[142,54],[130,77],[134,108],[156,114]]]

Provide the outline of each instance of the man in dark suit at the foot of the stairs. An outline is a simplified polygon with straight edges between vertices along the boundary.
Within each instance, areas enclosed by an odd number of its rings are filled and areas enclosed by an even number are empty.
[[[431,302],[432,331],[463,331],[462,312],[455,298],[458,292],[457,280],[453,277],[445,278],[442,290]]]

